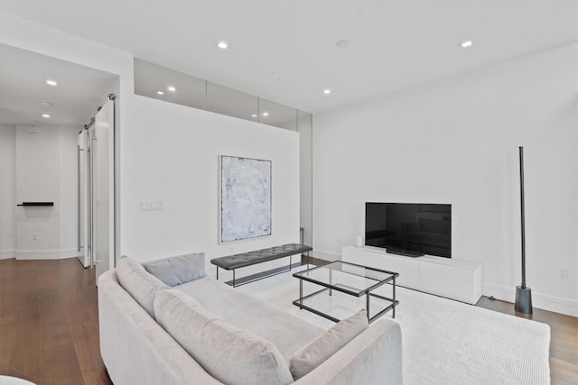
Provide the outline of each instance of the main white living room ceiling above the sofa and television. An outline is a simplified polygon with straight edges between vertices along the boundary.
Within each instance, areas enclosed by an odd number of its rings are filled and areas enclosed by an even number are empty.
[[[578,40],[578,0],[0,0],[0,10],[312,113]]]

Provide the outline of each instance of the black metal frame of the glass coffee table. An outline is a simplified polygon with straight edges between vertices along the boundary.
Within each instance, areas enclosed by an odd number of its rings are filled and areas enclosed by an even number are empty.
[[[333,266],[338,266],[338,265],[346,265],[346,266],[357,266],[359,268],[363,268],[363,269],[367,269],[367,270],[372,270],[372,271],[377,271],[379,273],[384,273],[387,274],[388,276],[385,278],[385,280],[378,280],[375,278],[371,278],[371,277],[362,277],[358,274],[354,274],[350,271],[342,271],[340,270],[340,272],[344,272],[347,274],[351,274],[351,275],[357,275],[359,277],[362,278],[366,278],[368,280],[375,280],[376,283],[374,285],[371,285],[368,288],[365,289],[356,289],[356,288],[352,288],[350,286],[346,286],[346,285],[340,285],[339,283],[332,283],[332,279],[331,279],[331,274],[333,269],[331,269],[330,265]],[[330,282],[324,282],[322,280],[315,280],[312,277],[308,277],[307,275],[305,275],[308,272],[311,272],[312,270],[317,270],[317,269],[327,269],[328,267],[330,267],[329,273],[330,273]],[[299,279],[299,299],[295,299],[293,301],[294,306],[299,307],[300,309],[305,309],[308,310],[318,316],[322,316],[325,317],[327,319],[330,319],[333,322],[340,322],[339,318],[335,318],[334,316],[330,316],[328,314],[323,313],[320,310],[314,309],[312,307],[308,307],[307,305],[303,305],[303,300],[307,299],[307,298],[312,298],[316,295],[321,294],[324,291],[329,291],[329,295],[331,296],[331,290],[337,290],[340,291],[341,293],[345,293],[345,294],[349,294],[350,296],[353,297],[361,297],[361,296],[366,296],[366,310],[368,312],[368,322],[372,323],[373,321],[375,321],[379,316],[384,315],[385,313],[387,313],[389,310],[392,310],[392,317],[395,318],[396,317],[396,306],[397,304],[399,304],[399,301],[396,300],[396,278],[399,277],[399,273],[396,273],[394,271],[387,271],[387,270],[379,270],[379,269],[374,269],[374,268],[370,268],[368,266],[363,266],[363,265],[359,265],[356,263],[350,263],[350,262],[343,262],[343,261],[333,261],[330,263],[326,263],[324,265],[321,266],[317,266],[314,267],[312,269],[307,269],[307,270],[303,270],[303,271],[299,271],[294,273],[293,275],[295,278]],[[320,285],[323,286],[324,289],[318,290],[313,292],[312,294],[309,294],[305,297],[303,297],[303,280],[306,280],[308,282],[314,283],[316,285]],[[380,286],[385,285],[386,283],[391,282],[392,285],[392,289],[393,289],[393,298],[387,298],[387,297],[383,297],[380,296],[378,294],[372,293],[373,290],[378,289]],[[369,316],[369,299],[371,297],[375,297],[375,298],[379,298],[379,299],[384,299],[387,302],[390,302],[391,304],[387,307],[385,307],[384,309],[380,310],[376,315],[374,316]]]

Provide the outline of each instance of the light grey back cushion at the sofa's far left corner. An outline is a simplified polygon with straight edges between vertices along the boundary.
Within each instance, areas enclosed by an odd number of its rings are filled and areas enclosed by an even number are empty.
[[[117,263],[117,278],[120,286],[154,318],[154,293],[166,285],[146,272],[138,261],[126,256]]]

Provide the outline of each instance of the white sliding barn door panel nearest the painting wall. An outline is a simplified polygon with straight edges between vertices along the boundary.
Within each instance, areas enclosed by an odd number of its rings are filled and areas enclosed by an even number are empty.
[[[114,101],[107,100],[95,116],[93,159],[92,259],[100,274],[115,266]]]

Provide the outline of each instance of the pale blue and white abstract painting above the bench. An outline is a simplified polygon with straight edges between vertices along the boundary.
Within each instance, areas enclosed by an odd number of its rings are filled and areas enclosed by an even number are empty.
[[[220,242],[271,235],[271,160],[220,157]]]

